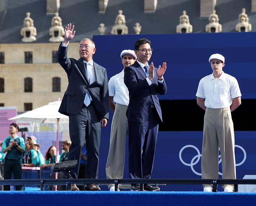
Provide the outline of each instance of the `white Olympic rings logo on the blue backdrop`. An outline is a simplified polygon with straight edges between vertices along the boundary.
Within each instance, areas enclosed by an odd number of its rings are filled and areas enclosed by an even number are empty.
[[[193,148],[193,149],[195,149],[196,152],[197,152],[197,155],[195,155],[195,156],[191,159],[190,163],[186,163],[186,162],[182,159],[182,157],[181,157],[183,150],[186,149],[186,148]],[[235,165],[235,166],[240,166],[240,165],[242,165],[242,164],[245,162],[245,160],[246,160],[246,152],[245,152],[245,149],[242,148],[240,145],[235,145],[235,148],[241,149],[242,152],[244,153],[244,158],[243,158],[243,160],[242,160],[240,163],[236,163],[236,165]],[[186,166],[189,166],[189,167],[191,168],[192,172],[195,173],[195,174],[198,175],[198,176],[201,176],[202,173],[196,172],[196,170],[194,169],[194,165],[196,165],[196,164],[199,162],[201,156],[202,156],[202,155],[200,154],[199,149],[198,149],[196,146],[191,145],[191,144],[188,144],[188,145],[182,147],[181,150],[180,150],[180,152],[179,152],[179,159],[181,160],[182,164],[184,164],[184,165],[186,165]],[[219,163],[221,163],[221,155],[219,155]],[[222,175],[222,173],[219,172],[219,175]]]

